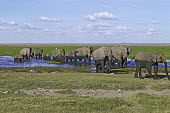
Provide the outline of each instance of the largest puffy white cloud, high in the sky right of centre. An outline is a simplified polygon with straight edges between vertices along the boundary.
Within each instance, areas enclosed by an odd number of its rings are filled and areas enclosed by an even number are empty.
[[[99,19],[101,19],[101,20],[117,20],[118,17],[114,16],[112,13],[100,12],[100,13],[94,13],[93,15],[87,15],[87,16],[85,16],[85,19],[88,21],[97,21]]]

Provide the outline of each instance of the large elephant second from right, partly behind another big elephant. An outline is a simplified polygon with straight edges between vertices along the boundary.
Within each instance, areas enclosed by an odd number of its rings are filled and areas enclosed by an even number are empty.
[[[132,52],[128,47],[111,47],[114,60],[119,63],[119,67],[127,66],[127,57]]]

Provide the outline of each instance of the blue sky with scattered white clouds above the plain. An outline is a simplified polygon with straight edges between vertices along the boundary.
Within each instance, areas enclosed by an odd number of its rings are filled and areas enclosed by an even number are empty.
[[[170,0],[0,0],[0,43],[169,43]]]

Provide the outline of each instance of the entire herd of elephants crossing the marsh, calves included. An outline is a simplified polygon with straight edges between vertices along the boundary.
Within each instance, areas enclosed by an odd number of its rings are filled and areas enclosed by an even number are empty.
[[[44,54],[43,50],[36,48],[32,51],[32,48],[23,48],[20,54],[14,56],[14,62],[24,62],[31,57],[37,59],[51,60],[56,62],[74,62],[77,60],[82,63],[91,64],[91,57],[93,57],[98,73],[110,73],[112,68],[115,68],[114,64],[118,64],[118,67],[125,68],[127,66],[127,58],[132,50],[129,47],[114,46],[114,47],[100,47],[93,51],[93,47],[83,47],[76,50],[55,49],[52,55]],[[168,76],[167,62],[163,53],[159,51],[139,51],[133,58],[136,63],[135,78],[143,78],[141,74],[141,68],[146,68],[148,76],[151,76],[151,69],[154,66],[154,78],[157,79],[158,63],[164,63],[165,73]],[[139,76],[138,76],[139,75]],[[169,79],[169,78],[168,78]]]

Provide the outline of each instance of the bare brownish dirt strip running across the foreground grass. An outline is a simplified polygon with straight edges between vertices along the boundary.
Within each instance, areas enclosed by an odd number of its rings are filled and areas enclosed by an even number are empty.
[[[34,95],[60,95],[59,92],[65,89],[33,89],[33,90],[21,90],[16,93],[26,93]],[[123,91],[123,90],[86,90],[77,89],[72,90],[80,96],[91,97],[129,97],[137,93],[148,93],[153,95],[170,95],[170,90],[156,91],[156,90],[136,90],[136,91]]]

